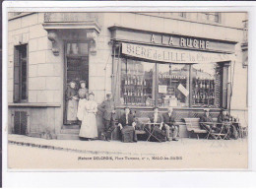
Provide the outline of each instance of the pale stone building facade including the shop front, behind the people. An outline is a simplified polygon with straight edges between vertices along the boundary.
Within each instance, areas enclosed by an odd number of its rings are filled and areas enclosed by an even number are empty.
[[[144,116],[172,106],[177,120],[208,107],[247,126],[246,13],[9,13],[9,133],[77,139],[66,90],[86,81],[99,104]],[[96,115],[98,132],[101,113]],[[115,139],[118,133],[115,132]],[[180,126],[180,137],[187,137]]]

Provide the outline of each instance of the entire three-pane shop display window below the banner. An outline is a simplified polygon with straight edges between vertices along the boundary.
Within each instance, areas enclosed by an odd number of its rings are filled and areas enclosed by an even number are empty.
[[[227,108],[228,64],[120,60],[121,75],[120,81],[117,80],[120,85],[116,83],[114,91],[117,104]]]

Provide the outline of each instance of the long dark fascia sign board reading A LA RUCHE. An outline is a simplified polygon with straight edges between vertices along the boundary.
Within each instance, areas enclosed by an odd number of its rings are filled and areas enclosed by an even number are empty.
[[[233,53],[236,43],[235,41],[228,41],[224,39],[145,32],[121,27],[111,27],[109,30],[112,32],[112,38],[115,40],[138,42],[147,45],[158,45],[164,47],[201,50],[207,52]]]

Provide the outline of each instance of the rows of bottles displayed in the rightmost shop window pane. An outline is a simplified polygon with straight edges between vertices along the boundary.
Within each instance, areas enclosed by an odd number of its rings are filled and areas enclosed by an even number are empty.
[[[215,80],[193,79],[193,106],[215,106]]]

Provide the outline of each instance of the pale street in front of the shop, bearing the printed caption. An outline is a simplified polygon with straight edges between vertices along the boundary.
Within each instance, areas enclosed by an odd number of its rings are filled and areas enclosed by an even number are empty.
[[[26,138],[30,139],[30,143],[34,140],[34,143],[54,147],[45,149],[36,145],[32,147],[9,143],[8,166],[12,169],[247,168],[246,139],[181,139],[178,142],[165,143],[121,143]],[[19,143],[21,139],[16,137]],[[27,143],[29,143],[28,140]]]

